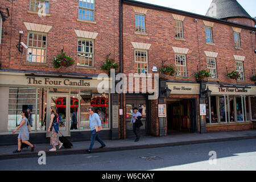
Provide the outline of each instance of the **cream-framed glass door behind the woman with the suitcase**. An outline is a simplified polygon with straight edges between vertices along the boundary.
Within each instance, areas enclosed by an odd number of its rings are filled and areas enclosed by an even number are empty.
[[[49,109],[51,106],[55,106],[57,108],[57,113],[61,116],[62,122],[59,123],[59,130],[61,134],[64,136],[70,136],[70,117],[69,117],[69,94],[64,93],[49,93],[48,101],[47,101],[47,129],[49,127],[49,123],[51,122],[51,113],[49,113]],[[50,133],[46,133],[46,137],[50,137]]]

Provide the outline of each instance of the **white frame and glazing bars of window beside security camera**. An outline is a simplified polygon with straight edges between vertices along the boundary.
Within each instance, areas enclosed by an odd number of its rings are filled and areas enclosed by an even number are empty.
[[[34,47],[33,46],[34,45],[34,39],[32,39],[32,46],[30,46],[30,43],[29,43],[29,41],[30,41],[30,34],[33,34],[33,38],[34,38],[34,34],[46,35],[46,47],[45,48],[43,48],[43,47]],[[26,61],[27,62],[29,62],[29,63],[46,63],[47,62],[47,39],[48,39],[48,35],[46,33],[44,33],[44,32],[28,31],[28,33],[27,33],[27,47],[28,47],[28,49],[27,49],[27,53],[26,53]],[[43,44],[43,42],[42,42],[42,44]],[[32,49],[44,49],[45,50],[44,61],[43,62],[42,61],[41,62],[28,61],[28,51],[29,51],[30,48],[32,48]]]

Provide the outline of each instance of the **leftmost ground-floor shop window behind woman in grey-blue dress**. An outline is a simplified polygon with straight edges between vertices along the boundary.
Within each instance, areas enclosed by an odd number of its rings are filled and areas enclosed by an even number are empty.
[[[36,88],[9,88],[9,107],[8,107],[8,126],[7,131],[12,132],[22,121],[22,110],[31,110],[31,119],[28,119],[31,131],[35,131],[35,109],[36,109]]]

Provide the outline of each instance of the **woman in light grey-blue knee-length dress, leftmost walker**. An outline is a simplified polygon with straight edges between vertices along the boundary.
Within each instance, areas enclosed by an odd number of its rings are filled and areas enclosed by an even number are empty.
[[[35,150],[35,145],[32,145],[28,140],[30,139],[30,133],[28,132],[27,125],[28,125],[28,112],[27,110],[23,110],[21,113],[22,120],[20,121],[18,127],[16,130],[13,131],[13,134],[16,133],[17,130],[19,130],[18,135],[18,150],[13,151],[14,153],[21,152],[20,146],[22,143],[27,144],[31,147],[31,152]]]

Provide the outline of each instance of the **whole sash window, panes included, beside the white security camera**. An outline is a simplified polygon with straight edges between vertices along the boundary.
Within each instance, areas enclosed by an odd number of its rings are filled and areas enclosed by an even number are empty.
[[[28,32],[27,61],[46,63],[47,35],[40,32]]]

